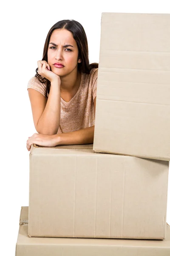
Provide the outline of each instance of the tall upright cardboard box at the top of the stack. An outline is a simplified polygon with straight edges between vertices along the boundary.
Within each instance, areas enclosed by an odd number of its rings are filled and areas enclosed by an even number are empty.
[[[93,149],[170,160],[170,14],[102,13]]]

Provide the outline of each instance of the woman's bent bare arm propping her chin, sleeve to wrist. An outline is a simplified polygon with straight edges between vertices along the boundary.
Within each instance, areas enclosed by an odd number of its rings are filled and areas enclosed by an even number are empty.
[[[34,126],[40,134],[57,134],[60,121],[60,83],[51,81],[48,99],[42,93],[28,88]]]

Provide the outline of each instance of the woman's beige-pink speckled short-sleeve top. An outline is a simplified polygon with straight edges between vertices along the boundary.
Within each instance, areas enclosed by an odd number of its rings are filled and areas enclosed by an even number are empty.
[[[79,89],[74,97],[69,102],[65,102],[61,97],[60,123],[57,134],[77,131],[94,125],[97,76],[98,68],[93,68],[90,74],[81,73]],[[46,86],[35,76],[28,81],[28,88],[33,88],[45,96]]]

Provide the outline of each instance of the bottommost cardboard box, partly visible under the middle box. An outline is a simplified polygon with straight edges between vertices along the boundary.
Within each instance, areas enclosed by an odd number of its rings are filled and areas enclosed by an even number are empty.
[[[25,213],[24,213],[25,212]],[[26,218],[27,213],[27,218]],[[24,214],[24,216],[23,216]],[[22,207],[15,256],[169,256],[170,226],[160,240],[28,237],[28,207]]]

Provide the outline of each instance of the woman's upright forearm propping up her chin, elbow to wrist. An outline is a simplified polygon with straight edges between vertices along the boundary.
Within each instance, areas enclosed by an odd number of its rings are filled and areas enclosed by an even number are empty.
[[[60,84],[51,82],[51,88],[45,109],[37,123],[36,130],[40,134],[57,134],[60,121]]]

